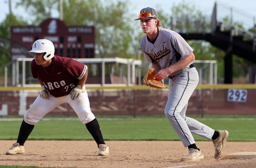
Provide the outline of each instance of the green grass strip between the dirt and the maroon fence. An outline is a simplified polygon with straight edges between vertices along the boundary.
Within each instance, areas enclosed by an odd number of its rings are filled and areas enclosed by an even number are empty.
[[[97,116],[96,116],[97,117]],[[180,140],[165,116],[97,117],[105,140]],[[194,118],[194,117],[192,117]],[[65,118],[66,119],[66,118]],[[73,118],[71,118],[73,119]],[[228,130],[229,141],[256,141],[256,116],[195,118],[215,130]],[[16,140],[21,121],[0,121],[0,140]],[[203,137],[194,135],[196,141]],[[78,120],[41,120],[28,140],[93,140]]]

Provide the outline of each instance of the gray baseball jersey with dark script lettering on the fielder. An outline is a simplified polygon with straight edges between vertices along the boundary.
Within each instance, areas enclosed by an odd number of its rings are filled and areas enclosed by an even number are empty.
[[[187,57],[193,49],[187,42],[175,31],[166,28],[158,28],[159,33],[152,44],[145,34],[140,40],[141,49],[144,52],[144,59],[147,63],[158,62],[161,69],[175,64],[178,60]],[[173,72],[171,76],[176,75],[184,69]]]

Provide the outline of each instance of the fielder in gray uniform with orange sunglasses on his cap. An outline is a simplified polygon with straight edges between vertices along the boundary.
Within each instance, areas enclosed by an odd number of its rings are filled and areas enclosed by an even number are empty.
[[[157,19],[154,9],[141,9],[139,17],[135,20],[140,20],[140,26],[145,33],[140,40],[145,61],[151,63],[152,68],[156,70],[156,79],[169,78],[168,100],[164,112],[184,147],[189,150],[180,161],[204,159],[204,154],[196,146],[192,133],[212,140],[215,148],[214,158],[218,159],[223,153],[228,131],[215,131],[185,115],[188,100],[199,81],[193,64],[193,49],[175,31],[159,27],[161,21]]]

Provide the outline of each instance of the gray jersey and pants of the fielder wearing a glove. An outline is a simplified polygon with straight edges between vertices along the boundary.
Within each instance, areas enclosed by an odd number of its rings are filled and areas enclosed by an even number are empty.
[[[150,41],[147,35],[140,40],[146,62],[158,62],[161,69],[166,69],[193,52],[180,34],[165,28],[158,28],[158,30],[158,36],[154,41]],[[183,145],[187,147],[195,143],[192,133],[211,140],[214,133],[212,128],[185,115],[188,100],[199,81],[197,70],[194,66],[188,65],[173,72],[171,76],[164,112]]]

